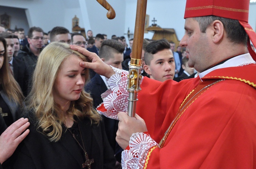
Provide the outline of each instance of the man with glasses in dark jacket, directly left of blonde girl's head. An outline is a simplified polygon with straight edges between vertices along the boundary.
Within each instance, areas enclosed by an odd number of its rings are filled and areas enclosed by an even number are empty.
[[[31,86],[31,79],[39,52],[44,44],[43,39],[43,30],[40,27],[31,27],[28,30],[28,44],[19,51],[13,60],[14,78],[19,83],[25,97],[30,91],[29,86]]]

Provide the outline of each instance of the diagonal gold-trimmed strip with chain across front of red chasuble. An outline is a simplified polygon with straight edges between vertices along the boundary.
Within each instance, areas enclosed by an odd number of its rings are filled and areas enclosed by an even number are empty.
[[[165,140],[167,139],[168,135],[170,134],[171,130],[173,129],[174,125],[176,124],[176,122],[179,120],[179,118],[181,117],[181,115],[187,110],[187,108],[200,96],[202,95],[205,91],[207,91],[209,89],[209,87],[213,86],[214,84],[225,80],[225,79],[221,79],[221,80],[209,80],[206,81],[206,84],[202,84],[202,85],[198,85],[192,92],[190,92],[188,94],[188,96],[184,99],[184,101],[182,102],[180,109],[177,112],[176,117],[174,118],[174,120],[172,121],[171,125],[169,126],[169,128],[167,129],[167,131],[165,132],[165,135],[163,136],[163,138],[161,139],[159,146],[160,148],[163,147],[163,144],[165,144]],[[207,90],[205,90],[207,89]],[[195,93],[196,92],[196,93]],[[194,93],[194,95],[191,95],[192,93]],[[197,97],[195,97],[197,96]],[[184,105],[184,106],[183,106]]]

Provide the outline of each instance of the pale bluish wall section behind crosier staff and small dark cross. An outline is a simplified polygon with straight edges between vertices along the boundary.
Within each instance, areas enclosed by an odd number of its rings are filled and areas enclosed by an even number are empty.
[[[162,28],[173,28],[180,40],[184,34],[183,19],[185,11],[185,0],[148,0],[146,14],[150,16],[149,26],[153,23],[152,20],[155,17],[156,24]],[[136,17],[137,0],[126,1],[126,14],[125,28],[130,27],[131,33],[134,32],[135,17]],[[179,15],[178,15],[179,14]],[[151,39],[153,33],[145,33],[144,38]]]

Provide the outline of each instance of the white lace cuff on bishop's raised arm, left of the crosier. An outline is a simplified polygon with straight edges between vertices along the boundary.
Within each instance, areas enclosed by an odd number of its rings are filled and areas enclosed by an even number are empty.
[[[97,107],[97,111],[99,114],[118,120],[117,113],[120,111],[127,112],[128,109],[129,92],[126,87],[129,72],[114,67],[112,69],[115,74],[109,79],[106,78],[110,89],[101,94],[103,103]]]

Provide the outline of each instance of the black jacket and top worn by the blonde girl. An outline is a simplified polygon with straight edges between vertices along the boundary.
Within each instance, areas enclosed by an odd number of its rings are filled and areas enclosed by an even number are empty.
[[[66,127],[58,142],[49,139],[37,131],[37,120],[33,112],[29,112],[29,135],[16,149],[12,156],[14,168],[19,169],[78,169],[85,163],[83,150]],[[91,169],[112,169],[115,167],[115,157],[105,134],[103,124],[91,125],[88,118],[77,120],[81,129],[86,152],[89,159],[94,159]]]

